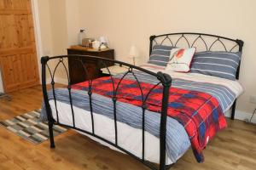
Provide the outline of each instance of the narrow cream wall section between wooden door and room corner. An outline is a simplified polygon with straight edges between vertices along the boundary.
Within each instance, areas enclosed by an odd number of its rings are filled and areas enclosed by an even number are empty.
[[[67,54],[70,45],[77,44],[79,32],[79,6],[76,0],[38,0],[38,15],[42,55]],[[41,56],[39,56],[40,58]],[[55,62],[50,62],[52,69]],[[58,78],[66,78],[66,71],[59,67]]]

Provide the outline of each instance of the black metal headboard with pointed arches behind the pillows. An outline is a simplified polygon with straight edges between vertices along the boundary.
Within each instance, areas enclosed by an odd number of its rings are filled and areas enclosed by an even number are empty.
[[[149,46],[149,54],[152,52],[152,48],[155,44],[166,44],[179,47],[179,43],[183,42],[187,47],[192,48],[196,46],[197,42],[201,42],[202,50],[201,51],[216,51],[213,48],[217,45],[219,47],[218,51],[226,51],[226,52],[242,52],[243,41],[239,39],[231,39],[228,37],[221,37],[212,34],[204,34],[204,33],[195,33],[195,32],[180,32],[180,33],[170,33],[170,34],[162,34],[158,36],[150,36],[150,46]],[[230,48],[228,44],[231,44]],[[239,72],[240,72],[240,64],[239,62],[237,71],[236,71],[236,79],[239,79]]]

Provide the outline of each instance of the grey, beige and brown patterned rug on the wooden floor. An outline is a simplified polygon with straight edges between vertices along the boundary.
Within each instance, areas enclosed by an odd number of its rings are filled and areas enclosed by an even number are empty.
[[[15,116],[9,120],[0,121],[0,125],[33,144],[40,144],[49,139],[48,124],[38,121],[40,111],[41,110],[31,111],[24,115]],[[58,125],[55,125],[53,129],[54,136],[67,131],[67,128]]]

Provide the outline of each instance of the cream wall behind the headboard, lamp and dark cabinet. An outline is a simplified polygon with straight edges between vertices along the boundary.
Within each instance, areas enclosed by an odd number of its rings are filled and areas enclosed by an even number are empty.
[[[249,96],[256,95],[255,7],[254,0],[79,0],[80,26],[91,37],[107,36],[119,60],[131,62],[135,43],[146,61],[153,34],[195,31],[244,40],[240,82],[246,91],[238,109],[247,112],[255,107]]]

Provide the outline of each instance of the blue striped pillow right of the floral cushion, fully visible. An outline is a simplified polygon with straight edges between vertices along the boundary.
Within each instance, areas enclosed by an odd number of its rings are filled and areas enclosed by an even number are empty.
[[[190,72],[236,80],[241,52],[201,52],[194,55]]]

